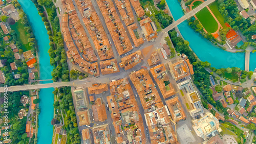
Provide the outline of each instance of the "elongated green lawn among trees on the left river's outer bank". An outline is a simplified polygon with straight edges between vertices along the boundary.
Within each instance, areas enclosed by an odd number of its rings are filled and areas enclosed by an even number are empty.
[[[21,19],[19,19],[17,22],[15,22],[14,25],[10,25],[11,29],[14,30],[17,33],[17,39],[22,44],[22,50],[24,52],[31,49],[31,46],[29,46],[27,32],[24,29],[24,25],[21,23]]]

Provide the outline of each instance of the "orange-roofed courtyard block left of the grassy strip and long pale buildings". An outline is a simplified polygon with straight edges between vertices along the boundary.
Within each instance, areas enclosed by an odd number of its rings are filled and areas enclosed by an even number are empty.
[[[166,105],[174,122],[178,123],[181,119],[186,119],[186,114],[178,100],[178,97],[167,100]]]

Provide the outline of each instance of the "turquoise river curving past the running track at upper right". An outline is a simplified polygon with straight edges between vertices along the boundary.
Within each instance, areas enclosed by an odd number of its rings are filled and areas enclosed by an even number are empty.
[[[175,20],[184,15],[178,0],[166,0]],[[221,50],[188,26],[187,20],[178,26],[182,36],[201,61],[208,61],[216,68],[240,67],[244,69],[245,53],[229,53]],[[250,54],[250,70],[256,68],[256,53]]]

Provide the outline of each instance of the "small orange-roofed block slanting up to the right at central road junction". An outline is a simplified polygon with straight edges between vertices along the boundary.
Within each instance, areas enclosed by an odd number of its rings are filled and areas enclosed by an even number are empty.
[[[139,64],[143,60],[143,58],[144,57],[141,51],[138,50],[130,55],[121,58],[121,62],[119,63],[119,65],[121,68],[124,68],[124,70],[128,70]]]

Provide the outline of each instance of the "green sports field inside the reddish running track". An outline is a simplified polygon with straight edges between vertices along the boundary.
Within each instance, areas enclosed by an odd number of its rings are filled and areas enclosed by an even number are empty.
[[[198,13],[197,18],[202,23],[204,29],[209,33],[214,33],[218,30],[218,23],[214,17],[210,14],[209,10],[205,7]]]

